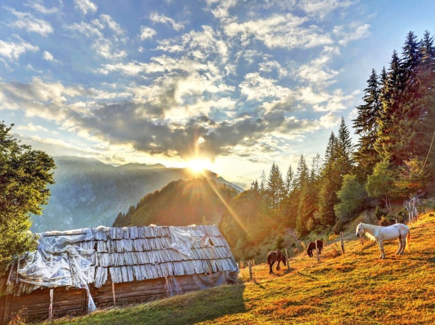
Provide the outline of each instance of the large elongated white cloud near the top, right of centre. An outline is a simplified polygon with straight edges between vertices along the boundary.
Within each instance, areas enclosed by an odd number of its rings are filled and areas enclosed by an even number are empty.
[[[230,37],[240,37],[242,44],[251,39],[262,41],[268,48],[309,49],[333,42],[329,33],[323,33],[315,26],[303,26],[307,17],[288,14],[273,14],[264,19],[242,23],[231,22],[224,27]]]

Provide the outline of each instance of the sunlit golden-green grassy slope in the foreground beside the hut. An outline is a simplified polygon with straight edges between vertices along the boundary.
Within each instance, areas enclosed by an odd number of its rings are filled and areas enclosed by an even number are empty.
[[[396,256],[397,242],[385,245],[346,241],[346,254],[332,245],[321,263],[299,255],[287,268],[268,274],[265,264],[247,269],[242,281],[129,308],[99,311],[56,324],[127,323],[306,323],[423,324],[435,321],[435,217],[424,215],[411,226],[411,250]]]

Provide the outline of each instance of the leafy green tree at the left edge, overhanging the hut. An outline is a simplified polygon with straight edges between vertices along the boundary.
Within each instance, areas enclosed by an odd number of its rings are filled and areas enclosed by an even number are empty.
[[[11,128],[0,122],[0,273],[16,256],[36,248],[30,236],[30,215],[48,204],[54,160],[45,152],[20,144]]]

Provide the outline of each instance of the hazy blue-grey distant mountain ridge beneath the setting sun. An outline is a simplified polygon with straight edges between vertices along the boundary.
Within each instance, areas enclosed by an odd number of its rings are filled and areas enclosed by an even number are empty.
[[[166,168],[161,164],[106,165],[92,158],[54,157],[57,169],[51,198],[42,216],[33,218],[32,231],[67,230],[98,225],[110,226],[120,211],[125,212],[144,195],[160,190],[173,180],[192,179],[187,168]],[[216,183],[234,185],[211,171]]]

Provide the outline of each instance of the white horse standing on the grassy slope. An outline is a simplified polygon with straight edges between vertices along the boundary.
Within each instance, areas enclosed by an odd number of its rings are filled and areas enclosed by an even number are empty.
[[[387,227],[382,227],[361,222],[357,226],[356,236],[360,237],[364,234],[368,239],[378,243],[379,250],[381,251],[381,256],[379,257],[380,259],[385,259],[384,241],[399,239],[399,249],[397,250],[396,255],[403,254],[406,245],[409,245],[409,242],[411,241],[409,227],[402,223],[396,223]]]

